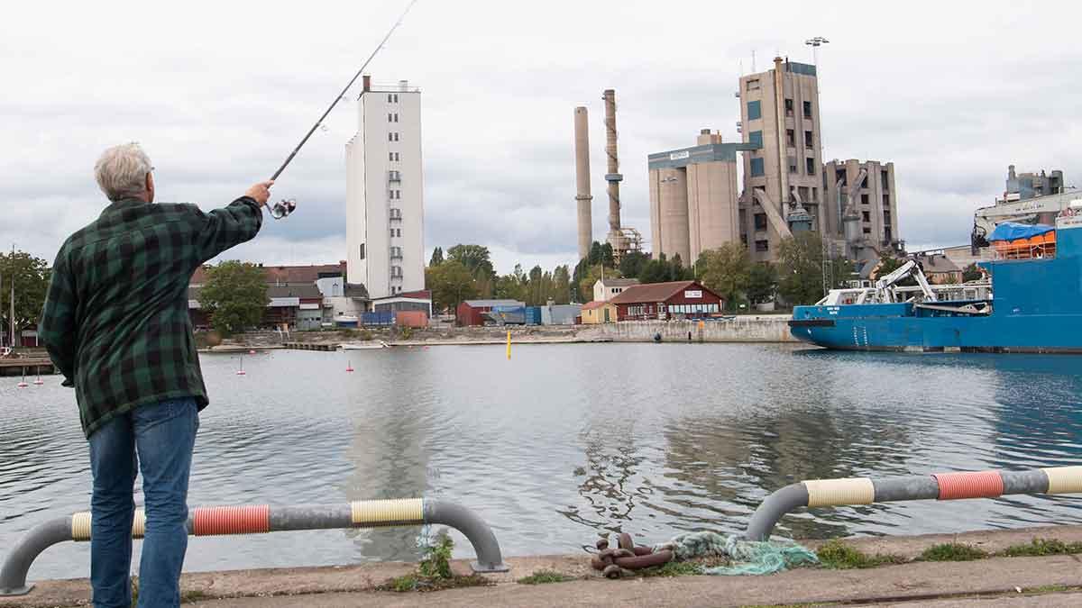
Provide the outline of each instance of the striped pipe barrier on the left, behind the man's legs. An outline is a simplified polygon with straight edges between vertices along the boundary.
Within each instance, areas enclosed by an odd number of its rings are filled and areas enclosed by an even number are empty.
[[[491,528],[469,508],[451,502],[423,499],[355,501],[348,504],[300,506],[200,506],[188,510],[188,533],[196,537],[255,534],[289,530],[382,528],[388,526],[443,525],[454,528],[473,545],[474,572],[506,572],[500,543]],[[146,513],[135,510],[132,537],[143,538]],[[30,565],[41,552],[65,541],[89,541],[90,512],[58,517],[36,526],[12,548],[0,567],[0,596],[25,595]]]

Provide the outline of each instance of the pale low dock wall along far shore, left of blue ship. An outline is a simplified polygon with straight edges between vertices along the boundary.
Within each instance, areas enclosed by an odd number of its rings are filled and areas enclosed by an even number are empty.
[[[743,315],[730,321],[624,321],[601,323],[591,336],[613,342],[797,342],[789,333],[789,315]]]

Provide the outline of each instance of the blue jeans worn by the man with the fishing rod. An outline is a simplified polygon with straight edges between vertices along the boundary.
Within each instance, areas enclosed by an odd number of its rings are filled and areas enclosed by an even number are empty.
[[[90,436],[90,582],[95,608],[130,608],[132,495],[143,473],[146,533],[140,560],[138,605],[179,606],[188,547],[188,474],[199,429],[195,399],[140,406]]]

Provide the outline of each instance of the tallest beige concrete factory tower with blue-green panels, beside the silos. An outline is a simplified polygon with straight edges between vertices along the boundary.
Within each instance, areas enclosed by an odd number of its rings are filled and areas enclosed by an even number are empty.
[[[740,77],[737,95],[743,142],[757,148],[743,157],[740,238],[753,261],[774,262],[790,214],[823,223],[816,66],[775,57],[773,69]]]

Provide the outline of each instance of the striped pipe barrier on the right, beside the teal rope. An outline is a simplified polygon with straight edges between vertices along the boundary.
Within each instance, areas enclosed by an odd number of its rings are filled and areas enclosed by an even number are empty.
[[[790,484],[758,505],[744,538],[765,541],[787,513],[802,506],[846,506],[902,500],[990,499],[1004,494],[1082,492],[1082,466],[1031,471],[973,471],[870,479],[813,479]]]

